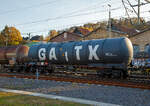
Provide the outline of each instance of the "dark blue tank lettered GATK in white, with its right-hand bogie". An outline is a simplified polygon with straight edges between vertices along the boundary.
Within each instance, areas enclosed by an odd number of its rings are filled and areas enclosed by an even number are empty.
[[[97,39],[32,45],[28,57],[51,65],[101,67],[98,74],[125,77],[133,57],[128,38]]]

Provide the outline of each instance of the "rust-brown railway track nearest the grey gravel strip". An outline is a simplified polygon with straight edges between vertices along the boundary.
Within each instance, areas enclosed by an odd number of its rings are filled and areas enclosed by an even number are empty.
[[[28,78],[28,79],[37,79],[36,75],[24,75],[17,73],[0,73],[0,77],[15,77],[15,78]],[[150,89],[150,79],[137,79],[134,77],[129,77],[126,80],[120,79],[107,79],[107,78],[98,78],[93,76],[79,76],[79,75],[66,75],[60,74],[51,74],[51,75],[41,75],[38,77],[38,80],[54,80],[54,81],[65,81],[65,82],[74,82],[74,83],[88,83],[88,84],[101,84],[109,86],[120,86],[120,87],[130,87],[130,88],[141,88],[141,89]]]

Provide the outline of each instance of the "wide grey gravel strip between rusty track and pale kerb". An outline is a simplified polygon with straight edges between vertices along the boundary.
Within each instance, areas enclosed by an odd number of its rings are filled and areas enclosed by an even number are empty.
[[[0,77],[0,88],[93,100],[123,106],[150,106],[150,90],[95,84]]]

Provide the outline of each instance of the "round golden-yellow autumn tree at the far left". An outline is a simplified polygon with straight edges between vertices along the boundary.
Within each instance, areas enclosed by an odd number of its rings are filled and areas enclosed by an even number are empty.
[[[21,33],[15,27],[8,27],[1,31],[0,43],[2,45],[18,45],[22,41]]]

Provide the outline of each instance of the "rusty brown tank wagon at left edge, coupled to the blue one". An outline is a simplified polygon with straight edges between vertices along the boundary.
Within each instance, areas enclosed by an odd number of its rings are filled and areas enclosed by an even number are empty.
[[[29,47],[24,45],[0,47],[0,71],[25,69]]]

